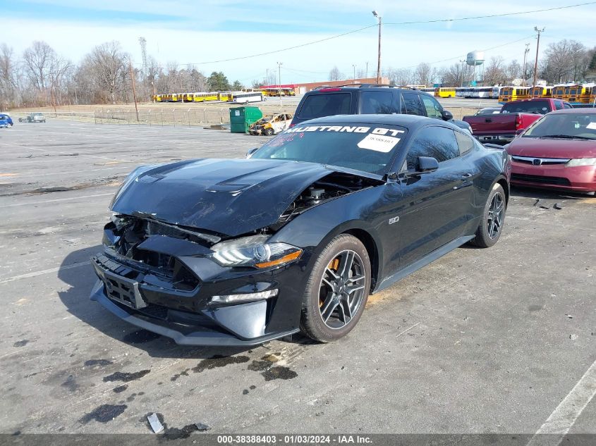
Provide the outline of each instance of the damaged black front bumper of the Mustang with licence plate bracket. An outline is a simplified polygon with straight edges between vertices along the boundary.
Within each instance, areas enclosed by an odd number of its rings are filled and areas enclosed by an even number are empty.
[[[159,246],[181,240],[159,237]],[[169,242],[172,242],[171,244]],[[164,249],[166,255],[171,249]],[[99,280],[90,299],[124,321],[170,337],[180,345],[257,345],[297,333],[305,283],[303,259],[268,271],[223,268],[200,256],[176,258],[196,276],[194,287],[176,289],[174,278],[112,252],[92,257]],[[222,304],[214,296],[275,290],[268,299]]]

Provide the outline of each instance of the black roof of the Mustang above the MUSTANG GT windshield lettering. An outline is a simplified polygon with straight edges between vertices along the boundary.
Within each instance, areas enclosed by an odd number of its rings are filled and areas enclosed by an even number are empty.
[[[415,130],[415,128],[419,128],[427,124],[439,124],[444,125],[445,127],[453,128],[455,130],[461,130],[457,125],[447,123],[444,120],[438,120],[437,118],[427,118],[426,116],[404,114],[323,116],[322,118],[305,120],[304,122],[298,124],[298,126],[302,127],[303,125],[314,124],[400,125],[401,127],[406,127],[409,130]]]

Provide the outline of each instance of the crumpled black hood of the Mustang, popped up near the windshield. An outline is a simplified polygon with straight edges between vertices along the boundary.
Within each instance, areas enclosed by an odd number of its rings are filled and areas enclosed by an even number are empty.
[[[300,192],[332,172],[317,163],[283,160],[182,161],[138,175],[111,210],[233,237],[272,225]]]

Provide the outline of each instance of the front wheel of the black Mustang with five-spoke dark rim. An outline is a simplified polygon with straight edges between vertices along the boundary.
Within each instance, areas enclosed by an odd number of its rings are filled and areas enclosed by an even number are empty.
[[[348,271],[341,271],[342,265],[349,265]],[[338,340],[360,320],[369,291],[370,258],[366,248],[352,235],[338,235],[324,247],[312,266],[300,329],[319,342]]]

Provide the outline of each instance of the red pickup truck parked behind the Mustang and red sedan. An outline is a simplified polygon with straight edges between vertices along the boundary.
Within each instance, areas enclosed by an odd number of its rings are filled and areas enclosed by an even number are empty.
[[[506,144],[542,115],[554,110],[571,109],[571,104],[561,99],[536,98],[507,102],[501,113],[464,116],[472,134],[480,142]]]

